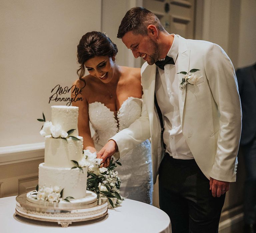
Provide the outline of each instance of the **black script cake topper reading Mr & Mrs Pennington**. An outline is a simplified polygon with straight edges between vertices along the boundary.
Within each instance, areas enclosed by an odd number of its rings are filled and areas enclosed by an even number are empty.
[[[74,88],[72,91],[72,97],[63,97],[62,95],[68,94],[70,90]],[[55,102],[68,102],[66,105],[70,106],[72,102],[77,102],[77,101],[83,101],[82,97],[79,97],[79,95],[82,95],[82,89],[78,88],[76,85],[73,85],[72,87],[64,87],[62,88],[59,84],[56,85],[52,91],[52,95],[49,97],[49,104],[51,101]]]

